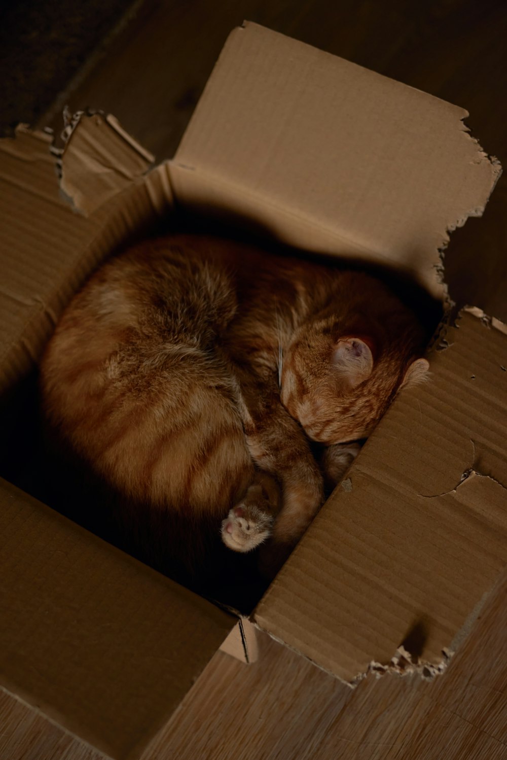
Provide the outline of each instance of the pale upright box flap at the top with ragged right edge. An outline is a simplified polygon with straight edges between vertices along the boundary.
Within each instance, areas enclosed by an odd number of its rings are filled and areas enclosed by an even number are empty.
[[[482,214],[500,172],[466,116],[246,23],[229,36],[178,147],[175,194],[291,245],[394,266],[442,297],[448,230]]]

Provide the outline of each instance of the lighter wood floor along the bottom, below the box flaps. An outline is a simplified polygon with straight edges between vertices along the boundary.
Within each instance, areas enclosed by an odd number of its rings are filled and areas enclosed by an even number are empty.
[[[217,652],[142,760],[505,760],[507,573],[444,676],[369,676],[354,691],[267,635]],[[102,760],[0,694],[2,760]]]

